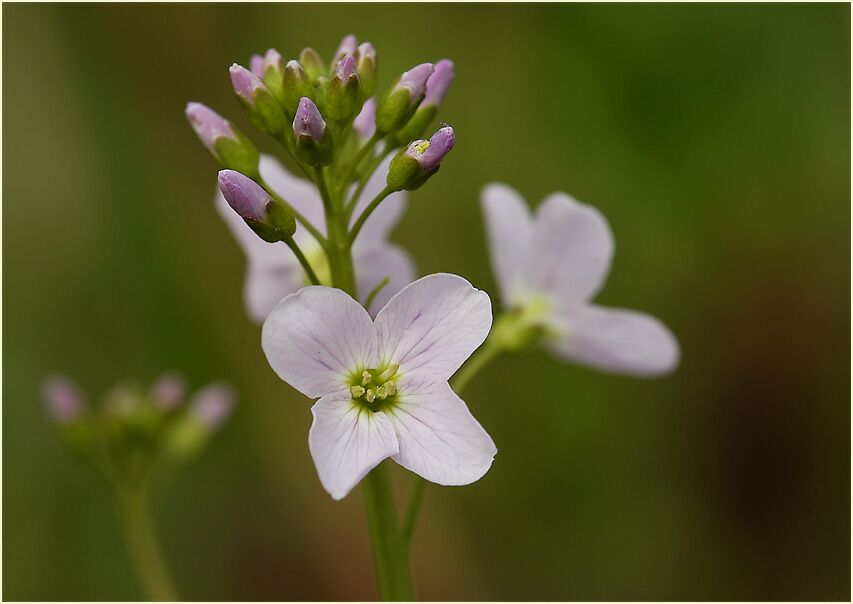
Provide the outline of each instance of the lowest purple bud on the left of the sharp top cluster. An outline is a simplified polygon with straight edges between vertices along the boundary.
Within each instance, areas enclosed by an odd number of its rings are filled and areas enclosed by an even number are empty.
[[[264,241],[283,241],[296,231],[296,221],[287,208],[248,176],[221,170],[219,190],[231,209]]]

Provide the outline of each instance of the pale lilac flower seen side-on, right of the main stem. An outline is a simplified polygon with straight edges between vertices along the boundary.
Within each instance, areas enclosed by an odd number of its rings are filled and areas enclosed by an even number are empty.
[[[589,302],[613,256],[613,235],[598,210],[553,193],[531,216],[516,191],[497,183],[484,188],[482,202],[504,306],[541,329],[552,352],[633,375],[675,368],[678,342],[660,321]]]

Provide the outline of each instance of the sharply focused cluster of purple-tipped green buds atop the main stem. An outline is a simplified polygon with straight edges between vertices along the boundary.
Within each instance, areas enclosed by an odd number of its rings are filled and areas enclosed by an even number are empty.
[[[352,35],[344,37],[330,63],[312,48],[287,61],[270,49],[252,56],[249,69],[234,64],[229,71],[252,126],[280,142],[308,174],[332,165],[341,179],[361,177],[359,148],[372,141],[373,149],[384,139],[384,154],[402,148],[389,185],[413,189],[435,173],[453,147],[449,126],[429,141],[419,140],[453,80],[453,63],[447,59],[412,67],[378,96],[376,50]],[[219,184],[231,207],[266,241],[292,237],[293,217],[261,180],[251,141],[200,103],[190,103],[186,115],[223,169]]]

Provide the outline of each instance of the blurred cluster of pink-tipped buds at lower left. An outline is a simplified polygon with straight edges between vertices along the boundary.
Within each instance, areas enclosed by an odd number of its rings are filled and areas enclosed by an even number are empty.
[[[234,404],[222,383],[187,397],[186,381],[174,372],[148,389],[117,384],[97,404],[61,376],[45,380],[43,395],[65,444],[116,489],[143,486],[162,463],[201,451]]]

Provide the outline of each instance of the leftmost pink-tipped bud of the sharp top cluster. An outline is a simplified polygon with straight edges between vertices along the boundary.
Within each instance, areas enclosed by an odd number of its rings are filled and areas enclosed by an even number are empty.
[[[220,166],[257,175],[258,150],[231,122],[201,103],[188,103],[186,116]]]

